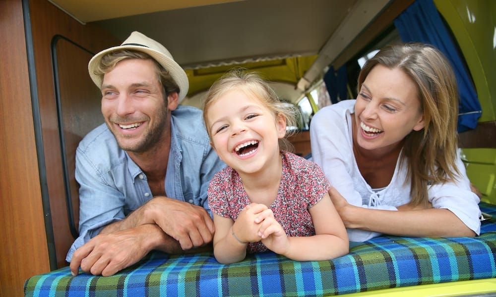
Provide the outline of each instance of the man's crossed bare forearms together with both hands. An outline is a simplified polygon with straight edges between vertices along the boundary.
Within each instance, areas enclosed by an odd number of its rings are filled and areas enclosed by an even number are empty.
[[[73,275],[79,267],[94,275],[113,275],[152,249],[181,253],[192,247],[208,248],[214,231],[203,207],[156,197],[79,247],[72,255],[70,270]]]

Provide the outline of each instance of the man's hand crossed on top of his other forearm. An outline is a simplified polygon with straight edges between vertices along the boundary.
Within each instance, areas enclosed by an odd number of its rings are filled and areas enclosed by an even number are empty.
[[[152,218],[184,250],[204,246],[213,239],[214,223],[201,206],[160,196],[142,207],[145,208],[143,214]]]

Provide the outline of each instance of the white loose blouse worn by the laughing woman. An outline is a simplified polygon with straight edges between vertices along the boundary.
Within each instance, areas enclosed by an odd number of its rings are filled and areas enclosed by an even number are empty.
[[[410,181],[405,182],[407,166],[399,158],[391,182],[382,189],[372,189],[358,169],[353,153],[352,113],[356,100],[343,100],[320,109],[310,124],[312,160],[324,171],[329,183],[350,204],[367,208],[397,210],[410,201]],[[453,212],[478,235],[481,230],[479,197],[470,190],[465,166],[458,157],[456,166],[461,178],[457,183],[433,185],[428,190],[434,208]],[[441,222],[440,222],[441,223]],[[348,229],[350,241],[363,242],[380,233]]]

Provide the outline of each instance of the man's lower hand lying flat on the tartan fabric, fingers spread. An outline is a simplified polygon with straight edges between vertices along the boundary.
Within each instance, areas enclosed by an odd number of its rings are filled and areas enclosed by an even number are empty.
[[[70,271],[77,275],[79,267],[93,275],[110,276],[141,260],[152,248],[152,241],[165,236],[154,225],[101,234],[72,255]]]

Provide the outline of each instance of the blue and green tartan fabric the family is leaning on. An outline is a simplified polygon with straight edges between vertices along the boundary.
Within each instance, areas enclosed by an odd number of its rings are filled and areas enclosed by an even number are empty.
[[[496,205],[481,203],[496,214]],[[496,222],[475,238],[383,236],[329,261],[298,262],[272,252],[219,264],[212,253],[153,252],[111,277],[68,267],[29,278],[26,296],[326,296],[496,277]]]

